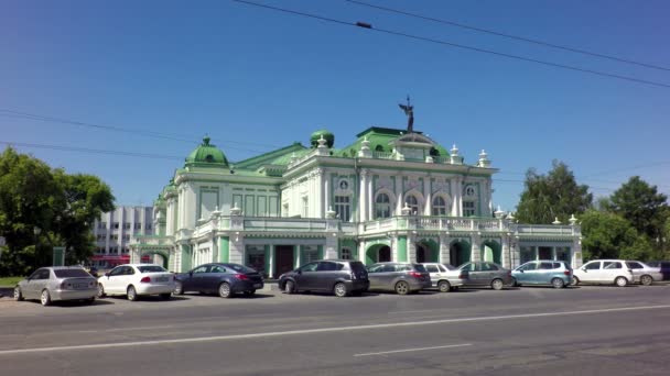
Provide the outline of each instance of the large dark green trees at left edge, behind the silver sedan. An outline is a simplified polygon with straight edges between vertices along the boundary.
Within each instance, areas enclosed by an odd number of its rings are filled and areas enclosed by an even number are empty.
[[[7,240],[0,276],[50,265],[55,245],[66,247],[68,264],[86,259],[94,247],[93,223],[110,210],[114,196],[99,178],[52,170],[8,147],[0,155],[0,234]]]

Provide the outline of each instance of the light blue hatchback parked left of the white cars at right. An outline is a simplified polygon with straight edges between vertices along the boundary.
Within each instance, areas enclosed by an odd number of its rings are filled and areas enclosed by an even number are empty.
[[[512,286],[551,285],[563,288],[572,284],[572,267],[562,261],[531,261],[514,269],[511,277]]]

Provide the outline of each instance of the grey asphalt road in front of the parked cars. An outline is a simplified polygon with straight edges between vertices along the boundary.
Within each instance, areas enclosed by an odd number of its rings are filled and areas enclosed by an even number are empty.
[[[668,375],[670,285],[0,300],[0,375]]]

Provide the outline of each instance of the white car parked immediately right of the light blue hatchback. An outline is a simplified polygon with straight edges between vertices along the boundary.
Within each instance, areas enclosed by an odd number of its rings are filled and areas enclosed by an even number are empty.
[[[573,270],[573,284],[614,284],[625,287],[634,280],[624,259],[594,259]]]

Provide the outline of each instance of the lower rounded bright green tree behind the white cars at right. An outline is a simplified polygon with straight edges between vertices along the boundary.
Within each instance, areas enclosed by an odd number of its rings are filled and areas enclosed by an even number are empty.
[[[646,236],[624,218],[597,210],[580,217],[584,258],[649,259],[651,247]]]

